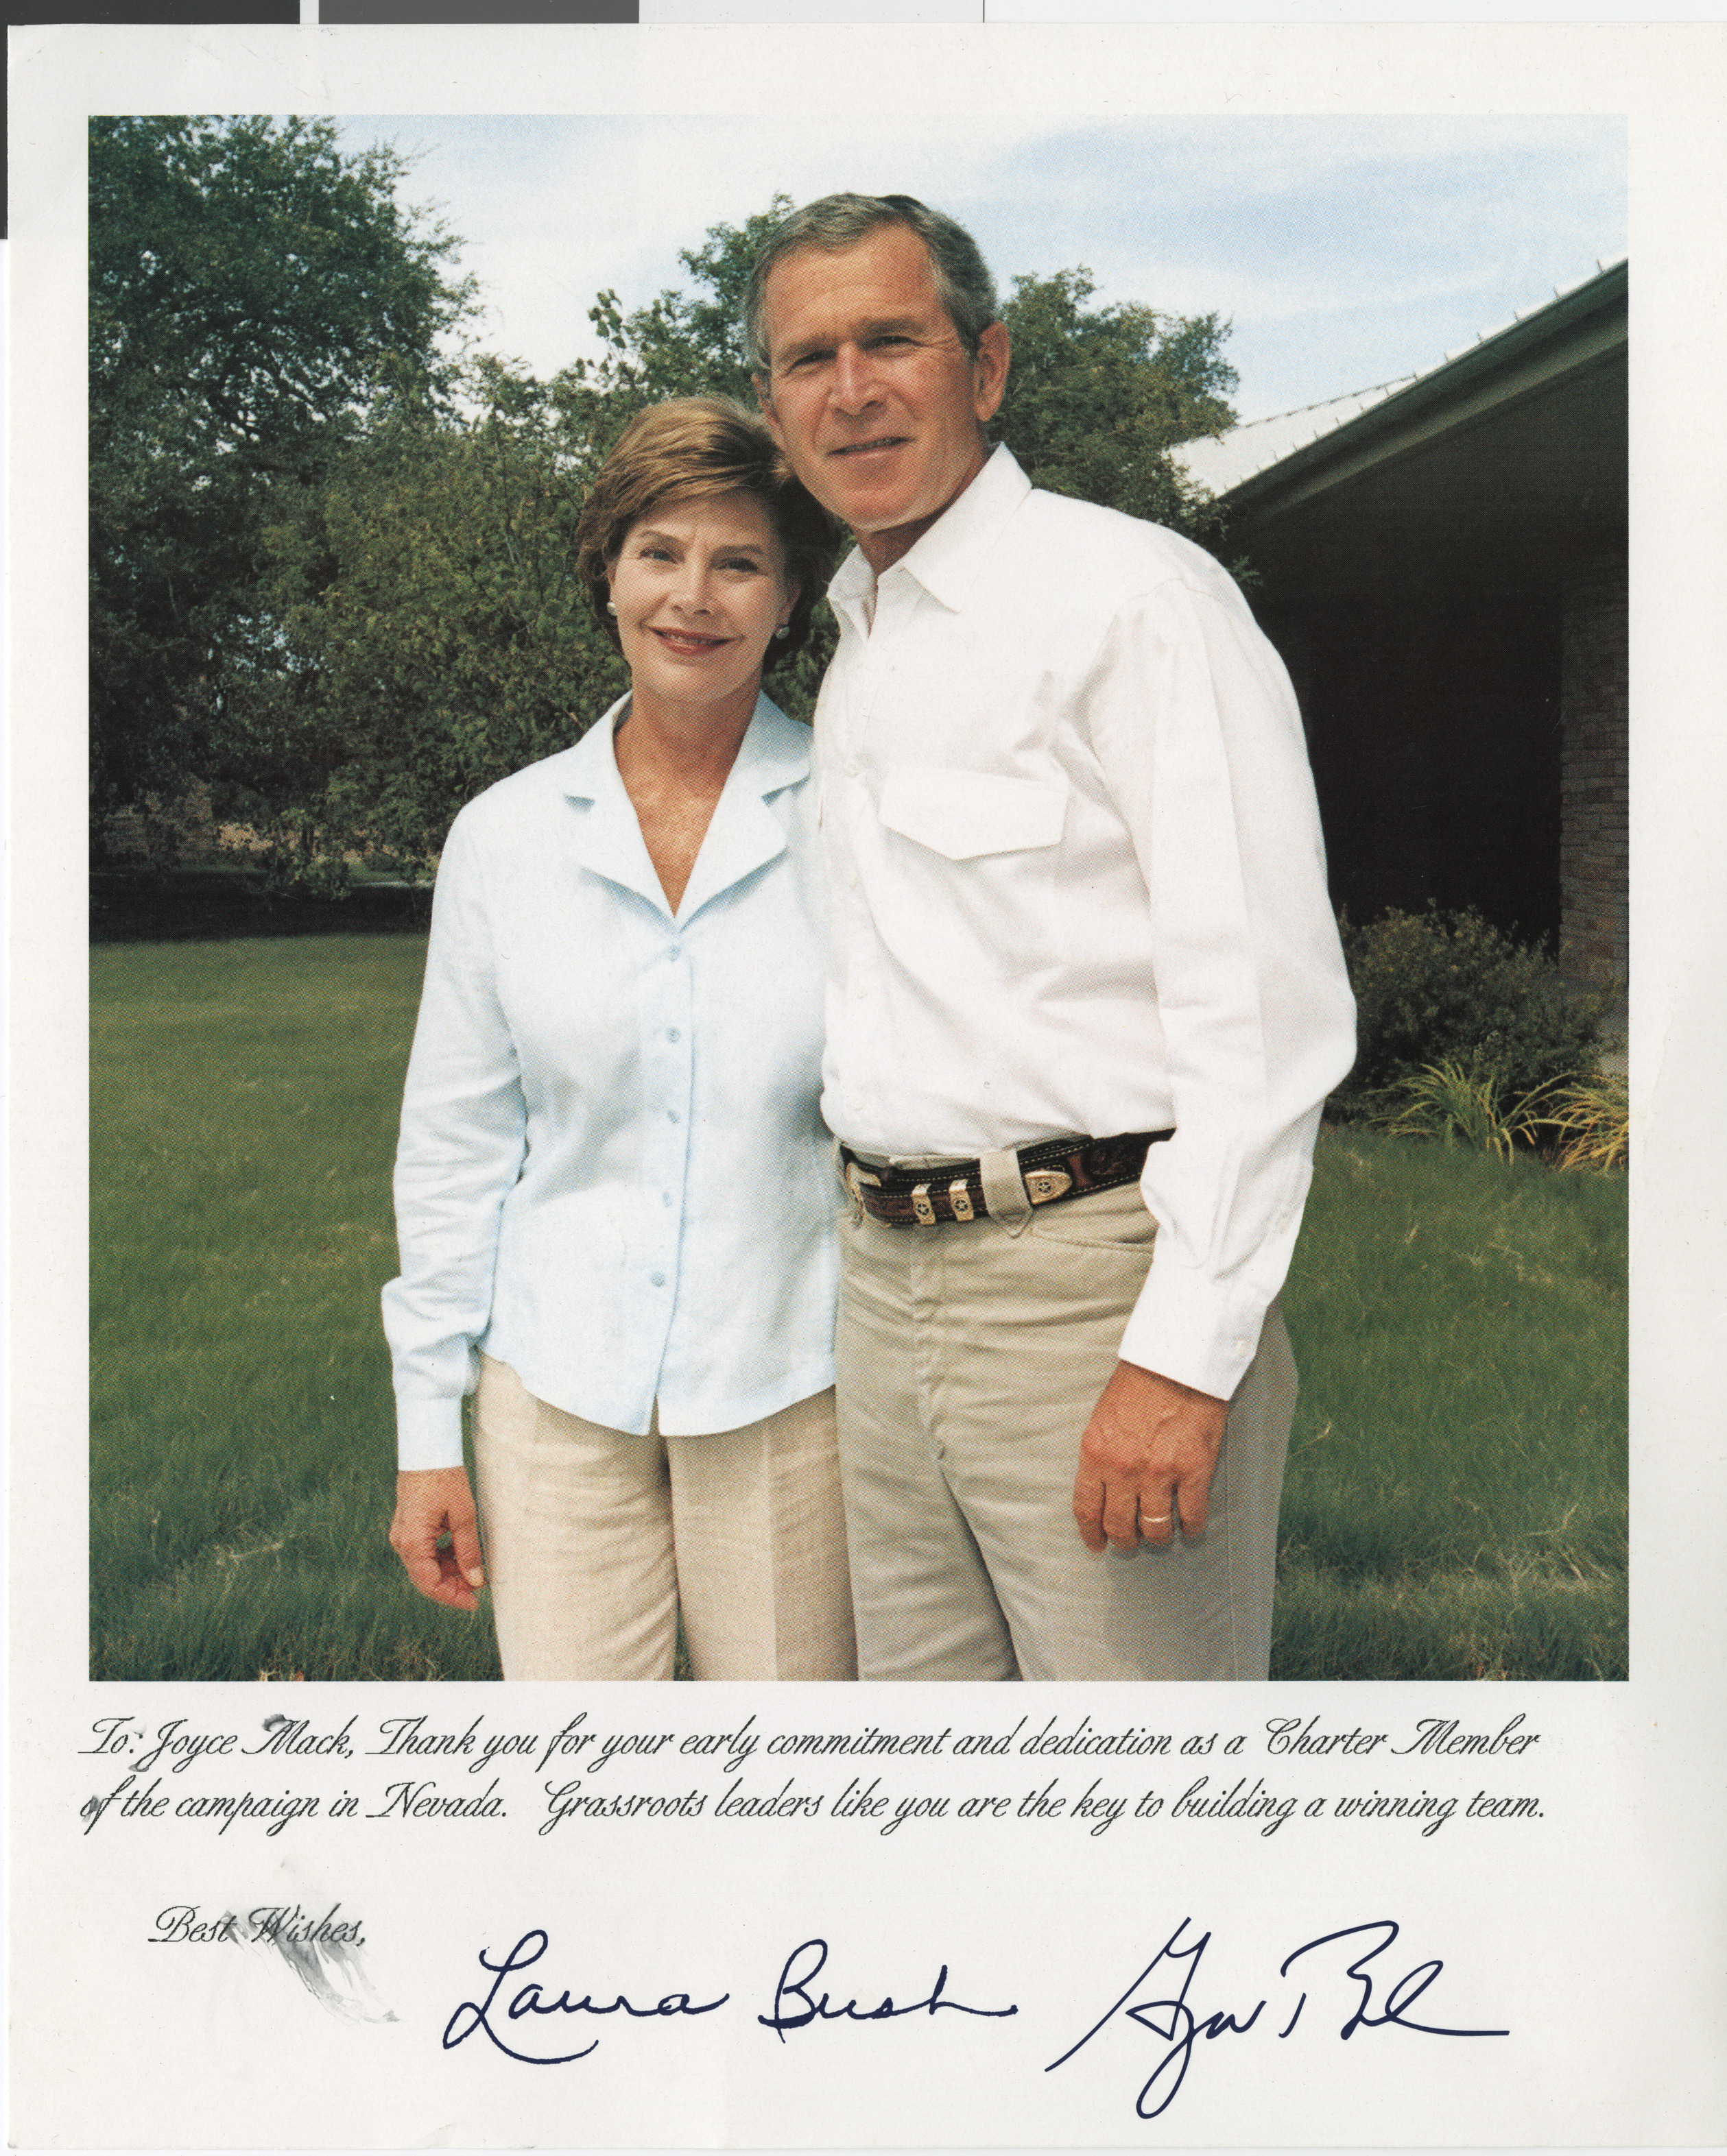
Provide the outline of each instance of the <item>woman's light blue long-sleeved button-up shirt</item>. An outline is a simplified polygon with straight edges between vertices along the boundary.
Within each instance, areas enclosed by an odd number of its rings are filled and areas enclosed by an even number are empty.
[[[461,1462],[481,1348],[627,1432],[832,1384],[811,735],[757,703],[673,916],[621,709],[470,802],[438,869],[384,1289],[405,1468]]]

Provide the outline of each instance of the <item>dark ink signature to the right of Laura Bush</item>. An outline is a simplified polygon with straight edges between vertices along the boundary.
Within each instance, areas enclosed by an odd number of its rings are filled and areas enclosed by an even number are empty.
[[[1238,2007],[1216,2007],[1214,2012],[1205,2014],[1197,2005],[1188,2003],[1188,1992],[1192,1990],[1194,1977],[1199,1975],[1199,1964],[1205,1958],[1205,1949],[1212,1945],[1210,1932],[1203,1932],[1184,1945],[1184,1936],[1188,1934],[1190,1923],[1192,1919],[1184,1917],[1175,1925],[1175,1930],[1169,1934],[1162,1947],[1158,1947],[1158,1951],[1151,1955],[1145,1968],[1141,1968],[1141,1973],[1134,1977],[1128,1990],[1115,2001],[1115,2005],[1108,2007],[1108,2012],[1102,2014],[1087,2029],[1087,2033],[1078,2040],[1078,2044],[1069,2044],[1069,2048],[1059,2059],[1052,2059],[1044,2068],[1046,2074],[1054,2074],[1059,2065],[1067,2065],[1067,2061],[1076,2053],[1084,2050],[1084,2046],[1097,2035],[1100,2029],[1108,2027],[1108,2022],[1113,2022],[1117,2014],[1123,2014],[1130,2022],[1136,2022],[1141,2029],[1147,2031],[1147,2035],[1151,2035],[1162,2046],[1162,2050],[1156,2055],[1156,2063],[1151,2065],[1145,2085],[1141,2087],[1134,2100],[1134,2111],[1143,2119],[1156,2119],[1164,2111],[1169,2111],[1169,2106],[1175,2102],[1182,2089],[1182,2083],[1188,2078],[1188,2065],[1192,2063],[1192,2048],[1199,2042],[1199,2037],[1205,2037],[1205,2042],[1210,2044],[1214,2037],[1246,2035],[1251,2029],[1255,2029],[1259,2016],[1266,2012],[1268,2005],[1266,1999],[1255,2001],[1255,2005],[1246,2012],[1246,2018],[1242,2018]],[[1378,1962],[1378,1958],[1397,1943],[1397,1936],[1399,1936],[1399,1925],[1393,1923],[1391,1917],[1380,1917],[1373,1923],[1352,1923],[1345,1925],[1341,1932],[1324,1932],[1320,1938],[1309,1938],[1304,1947],[1296,1947],[1294,1953],[1287,1953],[1279,1964],[1279,1975],[1287,1977],[1289,1971],[1298,1962],[1302,1962],[1304,1966],[1300,1973],[1300,1981],[1317,1986],[1330,1971],[1326,1968],[1324,1960],[1304,1962],[1307,1955],[1320,1955],[1320,1949],[1324,1947],[1337,1947],[1339,1949],[1337,1960],[1341,1960],[1343,1953],[1354,1953],[1354,1960],[1345,1962],[1341,1971],[1345,1979],[1358,1986],[1358,1992],[1354,1994],[1352,2001],[1352,2012],[1337,2031],[1343,2042],[1348,2042],[1356,2033],[1356,2029],[1408,2029],[1417,2035],[1509,2035],[1511,2033],[1509,2029],[1442,2029],[1436,2022],[1412,2020],[1410,2016],[1417,2001],[1438,1979],[1440,1971],[1445,1968],[1445,1962],[1417,1962],[1414,1968],[1408,1968],[1395,1981],[1391,1981],[1388,1968],[1369,1973],[1367,1964]],[[1354,1951],[1356,1943],[1360,1943],[1360,1951]],[[1138,1992],[1151,1988],[1153,1971],[1169,1968],[1173,1964],[1186,1964],[1179,1990],[1173,1996],[1162,1996],[1162,1999],[1136,1996]],[[1391,1966],[1397,1964],[1393,1962]],[[1378,2001],[1376,1977],[1378,1984],[1386,1986],[1382,2003],[1376,2003]],[[1160,1981],[1169,1984],[1173,1981],[1173,1977],[1164,1975]],[[1276,2031],[1279,2037],[1287,2037],[1294,2031],[1307,2001],[1309,1992],[1302,1992],[1300,1999],[1296,2001],[1294,2012],[1289,2014],[1289,2020]]]

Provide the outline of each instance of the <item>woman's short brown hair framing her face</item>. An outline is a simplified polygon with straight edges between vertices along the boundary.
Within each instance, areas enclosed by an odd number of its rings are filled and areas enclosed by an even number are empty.
[[[750,494],[785,552],[785,580],[798,586],[789,634],[768,645],[765,664],[789,658],[809,636],[815,602],[828,589],[839,526],[791,474],[768,427],[729,397],[673,397],[638,412],[599,468],[576,526],[576,573],[599,627],[617,645],[608,612],[610,571],[630,528],[662,502]]]

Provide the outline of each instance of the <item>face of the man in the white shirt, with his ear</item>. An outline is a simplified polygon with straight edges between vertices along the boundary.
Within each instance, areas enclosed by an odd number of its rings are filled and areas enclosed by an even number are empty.
[[[854,248],[800,248],[768,274],[774,438],[811,494],[880,571],[983,470],[983,423],[1007,388],[1007,330],[977,358],[936,298],[929,254],[903,224]]]

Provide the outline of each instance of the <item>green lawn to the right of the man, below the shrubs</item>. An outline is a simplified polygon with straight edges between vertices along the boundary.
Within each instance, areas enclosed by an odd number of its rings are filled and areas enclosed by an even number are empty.
[[[1330,1132],[1274,1677],[1624,1677],[1626,1184]]]

